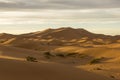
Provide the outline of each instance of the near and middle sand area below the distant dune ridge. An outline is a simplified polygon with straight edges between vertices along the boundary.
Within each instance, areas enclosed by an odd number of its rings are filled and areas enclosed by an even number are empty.
[[[51,55],[0,45],[0,80],[120,80],[118,45],[58,46]],[[27,56],[38,62],[26,61]],[[100,61],[91,64],[95,59]]]

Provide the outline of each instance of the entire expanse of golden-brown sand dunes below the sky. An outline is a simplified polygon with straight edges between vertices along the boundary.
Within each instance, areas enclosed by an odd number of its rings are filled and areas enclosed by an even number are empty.
[[[0,80],[120,80],[120,35],[71,27],[1,33],[0,65]]]

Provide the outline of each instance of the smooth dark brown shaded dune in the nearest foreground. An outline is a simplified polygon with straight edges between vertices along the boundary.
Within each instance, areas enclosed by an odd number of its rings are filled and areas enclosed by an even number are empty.
[[[30,63],[0,59],[1,80],[112,80],[55,63]]]

